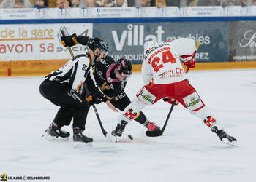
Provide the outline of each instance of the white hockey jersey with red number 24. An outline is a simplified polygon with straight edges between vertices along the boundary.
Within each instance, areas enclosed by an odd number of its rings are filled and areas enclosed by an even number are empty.
[[[170,84],[187,79],[180,57],[192,55],[194,51],[195,41],[187,38],[153,45],[143,60],[143,82]]]

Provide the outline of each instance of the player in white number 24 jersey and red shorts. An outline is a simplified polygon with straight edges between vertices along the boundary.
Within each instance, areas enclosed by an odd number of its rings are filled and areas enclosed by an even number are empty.
[[[169,103],[181,103],[193,115],[202,119],[222,142],[236,146],[236,138],[227,135],[219,120],[208,111],[195,88],[187,80],[181,60],[188,68],[194,68],[195,53],[193,39],[181,38],[159,44],[147,44],[142,65],[144,86],[118,117],[118,124],[112,135],[121,136],[126,124],[134,119],[141,109],[164,99]]]

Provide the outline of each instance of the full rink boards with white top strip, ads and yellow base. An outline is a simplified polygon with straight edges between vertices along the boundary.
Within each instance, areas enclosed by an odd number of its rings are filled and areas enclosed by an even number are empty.
[[[200,41],[194,70],[255,68],[256,7],[0,9],[0,76],[45,75],[71,58],[61,30],[108,42],[108,55],[141,70],[143,45],[188,37]],[[152,17],[153,16],[153,17]],[[28,17],[34,17],[29,19]],[[94,17],[94,18],[91,18]],[[74,55],[87,47],[72,47]]]

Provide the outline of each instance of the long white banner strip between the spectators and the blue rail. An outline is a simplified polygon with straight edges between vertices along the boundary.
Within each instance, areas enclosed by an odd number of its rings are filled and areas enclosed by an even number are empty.
[[[256,16],[256,6],[0,9],[0,20],[222,16]]]

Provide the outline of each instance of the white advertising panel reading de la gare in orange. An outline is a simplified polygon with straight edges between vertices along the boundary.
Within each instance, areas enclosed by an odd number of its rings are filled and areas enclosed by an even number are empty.
[[[92,36],[92,23],[0,25],[0,61],[69,59],[69,51],[60,41],[66,34]],[[85,47],[72,47],[75,55]]]

